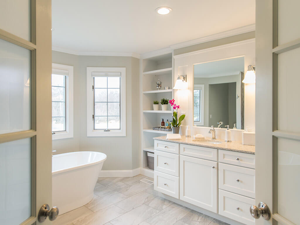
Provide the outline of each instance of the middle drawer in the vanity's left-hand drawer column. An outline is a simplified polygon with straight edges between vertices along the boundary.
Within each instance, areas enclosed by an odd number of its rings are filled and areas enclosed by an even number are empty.
[[[179,177],[179,155],[155,150],[154,170]]]

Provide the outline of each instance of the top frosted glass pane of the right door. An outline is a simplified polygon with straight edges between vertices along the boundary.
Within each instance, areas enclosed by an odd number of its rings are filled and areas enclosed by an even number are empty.
[[[278,45],[300,38],[300,1],[278,0]]]

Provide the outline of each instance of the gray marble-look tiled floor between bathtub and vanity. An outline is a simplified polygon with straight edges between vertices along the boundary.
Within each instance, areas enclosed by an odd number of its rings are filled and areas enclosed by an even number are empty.
[[[94,198],[53,225],[226,225],[158,196],[149,177],[99,178]]]

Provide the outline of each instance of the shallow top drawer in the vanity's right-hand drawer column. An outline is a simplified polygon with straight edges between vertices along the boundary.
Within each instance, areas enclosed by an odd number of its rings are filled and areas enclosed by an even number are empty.
[[[255,155],[219,149],[219,162],[255,169]]]

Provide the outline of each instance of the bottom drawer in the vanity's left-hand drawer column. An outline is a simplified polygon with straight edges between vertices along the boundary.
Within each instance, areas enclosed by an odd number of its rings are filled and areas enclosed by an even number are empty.
[[[154,190],[179,199],[179,177],[154,171]]]

